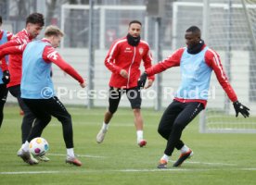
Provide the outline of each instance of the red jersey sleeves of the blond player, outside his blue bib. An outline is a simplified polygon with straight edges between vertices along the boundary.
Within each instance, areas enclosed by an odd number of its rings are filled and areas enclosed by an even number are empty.
[[[49,43],[49,41],[45,38],[42,39],[42,41]],[[22,56],[22,53],[26,49],[27,44],[28,43],[23,43],[22,45],[19,45],[19,46],[7,47],[5,49],[0,50],[0,58],[6,55]],[[64,70],[66,73],[68,73],[75,80],[78,80],[80,83],[84,82],[83,77],[74,68],[72,68],[67,62],[65,62],[65,60],[58,54],[58,52],[55,50],[54,47],[49,45],[45,46],[44,52],[42,54],[42,58],[47,63],[52,62],[56,64],[59,68]]]

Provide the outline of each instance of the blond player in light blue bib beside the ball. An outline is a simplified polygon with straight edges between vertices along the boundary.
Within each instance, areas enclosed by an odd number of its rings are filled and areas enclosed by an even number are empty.
[[[22,56],[22,79],[21,79],[21,98],[28,105],[35,115],[37,122],[34,123],[32,130],[21,146],[19,156],[24,162],[30,165],[36,164],[29,152],[29,142],[33,138],[39,137],[51,116],[57,117],[62,124],[63,137],[67,148],[66,163],[75,166],[82,166],[73,150],[73,131],[72,121],[65,106],[55,96],[53,82],[50,77],[52,63],[70,74],[72,78],[78,80],[81,87],[85,87],[85,81],[78,72],[66,63],[58,52],[58,47],[63,32],[56,26],[48,26],[45,29],[45,38],[32,43],[24,43],[20,46],[9,48],[12,54],[23,54]],[[11,50],[11,51],[10,51]],[[5,52],[3,50],[3,52]]]

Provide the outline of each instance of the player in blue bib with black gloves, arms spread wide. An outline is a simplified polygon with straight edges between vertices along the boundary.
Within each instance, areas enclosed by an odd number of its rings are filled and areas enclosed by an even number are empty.
[[[185,39],[186,47],[176,50],[173,55],[152,68],[147,68],[138,80],[138,86],[144,86],[148,75],[160,73],[167,68],[178,66],[181,68],[181,85],[173,103],[166,108],[160,119],[158,131],[167,140],[167,145],[160,158],[159,168],[167,167],[174,148],[180,150],[181,155],[173,166],[181,166],[188,157],[193,155],[192,150],[181,141],[182,131],[207,104],[208,94],[205,92],[209,90],[212,70],[224,92],[233,102],[236,117],[238,113],[244,117],[250,115],[250,109],[238,102],[237,95],[224,73],[220,57],[201,40],[201,31],[198,27],[188,28]]]

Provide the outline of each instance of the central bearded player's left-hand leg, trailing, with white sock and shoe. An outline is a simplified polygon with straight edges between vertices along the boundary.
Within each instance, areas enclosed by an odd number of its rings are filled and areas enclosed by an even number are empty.
[[[109,129],[109,122],[113,117],[114,113],[117,111],[118,105],[120,103],[122,97],[122,90],[112,88],[109,89],[109,109],[104,115],[104,121],[102,123],[101,129],[98,131],[96,135],[96,142],[101,143],[104,141],[106,133]]]

